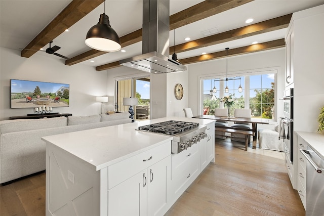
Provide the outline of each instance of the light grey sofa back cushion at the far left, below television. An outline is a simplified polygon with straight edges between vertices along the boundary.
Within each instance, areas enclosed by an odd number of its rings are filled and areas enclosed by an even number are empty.
[[[45,129],[67,125],[67,118],[64,116],[54,118],[38,119],[14,119],[0,121],[0,132],[6,134],[18,131],[33,131],[36,129]]]

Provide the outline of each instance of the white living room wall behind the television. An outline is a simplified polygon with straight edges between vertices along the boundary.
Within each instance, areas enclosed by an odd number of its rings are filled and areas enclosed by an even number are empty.
[[[64,60],[43,52],[30,58],[20,51],[0,48],[0,120],[10,116],[33,113],[33,108],[10,108],[10,79],[23,79],[70,84],[70,106],[53,108],[54,112],[72,113],[75,116],[101,113],[101,103],[95,96],[107,95],[107,72],[82,64],[67,66]]]

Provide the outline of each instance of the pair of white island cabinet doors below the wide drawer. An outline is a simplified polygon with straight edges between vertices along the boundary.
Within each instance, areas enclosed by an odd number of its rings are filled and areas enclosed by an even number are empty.
[[[108,215],[163,215],[170,168],[168,156],[108,190]]]

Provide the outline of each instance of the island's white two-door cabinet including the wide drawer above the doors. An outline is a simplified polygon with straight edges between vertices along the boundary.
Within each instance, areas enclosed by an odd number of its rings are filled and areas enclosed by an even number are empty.
[[[108,167],[108,215],[163,215],[168,210],[170,152],[167,142]]]

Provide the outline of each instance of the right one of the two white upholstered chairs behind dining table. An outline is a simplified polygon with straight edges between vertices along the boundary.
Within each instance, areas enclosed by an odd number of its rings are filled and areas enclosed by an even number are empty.
[[[251,109],[234,109],[234,117],[238,118],[251,118],[251,113]],[[252,125],[249,122],[234,122],[232,127],[236,127],[237,129],[252,129]],[[231,140],[245,143],[245,135],[234,134]],[[251,137],[249,136],[248,142],[250,143],[250,141]]]

